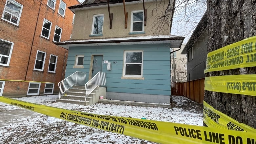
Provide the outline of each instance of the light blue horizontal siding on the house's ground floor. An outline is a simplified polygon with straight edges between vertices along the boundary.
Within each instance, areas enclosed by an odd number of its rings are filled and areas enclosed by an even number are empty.
[[[144,80],[121,79],[125,50],[143,50]],[[84,55],[83,69],[73,68],[76,55]],[[111,62],[111,70],[106,63],[102,65],[107,92],[171,95],[170,48],[166,44],[70,47],[66,77],[75,71],[87,72],[88,81],[92,55],[103,55],[103,61]]]

